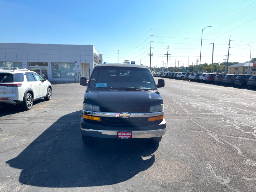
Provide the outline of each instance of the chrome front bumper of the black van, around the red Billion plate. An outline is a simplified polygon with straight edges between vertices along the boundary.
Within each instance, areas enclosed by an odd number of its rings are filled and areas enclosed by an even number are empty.
[[[91,137],[99,137],[99,138],[117,138],[117,132],[122,131],[103,131],[103,130],[94,130],[94,129],[83,129],[81,127],[82,132],[85,131],[87,136]],[[126,132],[126,131],[123,131]],[[132,132],[132,138],[153,138],[153,137],[161,137],[165,133],[164,129],[159,130],[150,130],[150,131],[128,131]]]

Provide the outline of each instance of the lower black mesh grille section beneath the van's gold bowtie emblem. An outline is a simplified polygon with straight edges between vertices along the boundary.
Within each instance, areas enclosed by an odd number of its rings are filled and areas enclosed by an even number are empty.
[[[105,124],[144,124],[147,119],[147,117],[101,117],[101,121]]]

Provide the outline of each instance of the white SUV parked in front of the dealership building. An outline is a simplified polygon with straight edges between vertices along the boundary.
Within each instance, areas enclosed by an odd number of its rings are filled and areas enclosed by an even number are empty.
[[[21,105],[29,110],[41,98],[52,99],[52,85],[45,78],[25,68],[0,68],[0,106]]]

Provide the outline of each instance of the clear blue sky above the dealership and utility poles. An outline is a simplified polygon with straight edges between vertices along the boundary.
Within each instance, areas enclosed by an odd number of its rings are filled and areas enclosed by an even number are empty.
[[[93,44],[104,61],[149,66],[245,62],[256,57],[256,1],[18,1],[0,0],[0,42]],[[246,45],[249,44],[249,45]],[[119,50],[119,58],[118,56]]]

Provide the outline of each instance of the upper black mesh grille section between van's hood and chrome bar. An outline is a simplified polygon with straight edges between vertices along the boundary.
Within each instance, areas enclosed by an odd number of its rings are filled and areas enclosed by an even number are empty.
[[[148,107],[101,107],[100,112],[105,113],[148,113]]]

